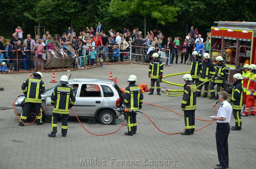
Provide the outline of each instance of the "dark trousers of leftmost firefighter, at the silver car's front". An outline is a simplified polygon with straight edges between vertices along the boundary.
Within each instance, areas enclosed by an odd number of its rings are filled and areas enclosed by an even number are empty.
[[[24,107],[23,107],[22,113],[20,115],[20,119],[22,120],[23,123],[26,122],[26,119],[28,117],[28,113],[30,111],[30,108],[33,106],[33,104],[34,104],[35,109],[36,109],[36,116],[38,116],[38,114],[42,111],[41,103],[31,103],[31,102],[24,103]],[[22,122],[19,121],[20,124],[23,124]],[[40,124],[40,123],[42,123],[42,113],[36,119],[36,124]]]

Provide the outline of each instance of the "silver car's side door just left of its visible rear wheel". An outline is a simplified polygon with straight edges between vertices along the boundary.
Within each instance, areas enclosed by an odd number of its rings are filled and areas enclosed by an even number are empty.
[[[84,83],[77,93],[77,114],[93,117],[104,101],[101,86],[97,83]]]

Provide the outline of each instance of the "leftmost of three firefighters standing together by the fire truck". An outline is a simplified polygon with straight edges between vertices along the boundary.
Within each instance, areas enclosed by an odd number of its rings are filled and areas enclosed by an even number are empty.
[[[201,70],[202,61],[197,57],[198,56],[197,51],[194,51],[192,55],[194,58],[192,58],[191,60],[190,75],[192,76],[192,79],[193,81],[195,81],[195,84],[197,86],[197,83],[199,81],[199,73]]]

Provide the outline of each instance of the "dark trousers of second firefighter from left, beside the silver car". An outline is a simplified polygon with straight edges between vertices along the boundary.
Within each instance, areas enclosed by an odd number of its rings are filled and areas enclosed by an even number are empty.
[[[61,134],[66,135],[68,131],[69,114],[52,113],[51,116],[51,133],[57,133],[57,122],[61,115]]]

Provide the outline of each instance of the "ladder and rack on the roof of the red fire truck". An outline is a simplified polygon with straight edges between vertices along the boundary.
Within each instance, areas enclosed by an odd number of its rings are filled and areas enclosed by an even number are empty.
[[[248,28],[256,29],[256,22],[232,22],[232,21],[219,21],[218,27],[232,27],[232,28]]]

